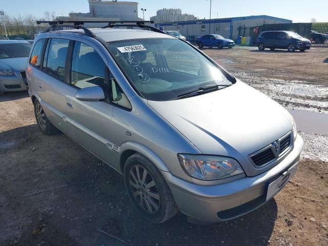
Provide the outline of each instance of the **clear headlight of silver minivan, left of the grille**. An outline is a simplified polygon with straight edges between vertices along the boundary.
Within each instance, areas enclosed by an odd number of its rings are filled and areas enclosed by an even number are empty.
[[[180,165],[193,178],[216,180],[243,173],[235,159],[226,156],[178,154]]]

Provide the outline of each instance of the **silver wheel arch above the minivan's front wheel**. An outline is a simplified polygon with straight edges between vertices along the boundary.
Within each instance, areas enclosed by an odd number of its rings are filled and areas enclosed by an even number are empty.
[[[157,154],[155,154],[151,149],[148,147],[139,144],[138,142],[125,142],[119,147],[119,166],[120,171],[123,173],[124,165],[127,159],[135,154],[139,153],[141,155],[144,155],[147,157],[151,162],[154,163],[157,169],[165,172],[169,172],[169,169],[165,165],[165,163],[158,157]]]

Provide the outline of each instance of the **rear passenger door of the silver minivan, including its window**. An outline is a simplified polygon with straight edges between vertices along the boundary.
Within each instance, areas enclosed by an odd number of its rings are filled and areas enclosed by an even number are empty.
[[[47,117],[55,127],[72,136],[73,128],[65,119],[65,98],[68,93],[65,76],[69,44],[70,40],[65,38],[45,39],[42,58],[32,54],[30,64],[34,67],[33,90],[39,96],[37,99]]]

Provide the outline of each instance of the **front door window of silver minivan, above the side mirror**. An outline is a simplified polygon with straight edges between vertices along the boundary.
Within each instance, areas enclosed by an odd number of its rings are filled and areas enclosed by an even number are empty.
[[[71,85],[78,88],[100,86],[108,88],[105,81],[106,65],[91,46],[75,42],[72,54]]]

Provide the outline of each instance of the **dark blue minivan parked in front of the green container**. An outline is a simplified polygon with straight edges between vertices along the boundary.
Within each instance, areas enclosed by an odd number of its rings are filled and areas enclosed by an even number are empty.
[[[311,41],[295,32],[290,31],[266,31],[262,32],[257,40],[256,45],[259,50],[270,48],[287,49],[290,52],[295,50],[305,51],[311,48]]]

